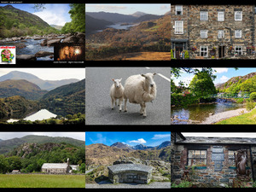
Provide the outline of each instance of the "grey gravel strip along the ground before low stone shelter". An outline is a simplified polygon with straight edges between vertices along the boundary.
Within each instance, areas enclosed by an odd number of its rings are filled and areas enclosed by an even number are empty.
[[[137,183],[94,183],[94,184],[85,184],[85,189],[98,189],[98,188],[105,188],[105,189],[171,189],[170,182],[153,182],[149,184],[137,184]]]

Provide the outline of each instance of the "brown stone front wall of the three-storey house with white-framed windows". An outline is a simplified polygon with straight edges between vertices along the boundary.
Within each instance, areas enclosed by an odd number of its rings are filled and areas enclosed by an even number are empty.
[[[194,54],[200,55],[200,46],[207,45],[208,51],[216,48],[215,58],[218,58],[218,46],[224,45],[225,55],[230,55],[230,27],[232,45],[243,46],[246,53],[247,46],[254,44],[254,10],[252,5],[189,5],[189,50],[196,46]],[[200,11],[208,12],[208,20],[200,20]],[[218,21],[218,11],[224,11],[224,21]],[[235,20],[235,11],[242,11],[242,20]],[[201,38],[201,30],[208,30],[208,37]],[[224,30],[224,38],[218,38],[218,30]],[[241,38],[235,38],[235,30],[241,30]],[[212,55],[208,54],[211,58]]]

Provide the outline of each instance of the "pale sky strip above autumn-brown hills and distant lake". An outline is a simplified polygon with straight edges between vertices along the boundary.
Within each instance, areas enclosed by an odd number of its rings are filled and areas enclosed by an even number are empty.
[[[85,4],[85,12],[110,12],[124,15],[131,15],[137,11],[144,12],[152,15],[164,15],[171,10],[171,4],[110,4],[110,3],[97,3],[97,4]]]

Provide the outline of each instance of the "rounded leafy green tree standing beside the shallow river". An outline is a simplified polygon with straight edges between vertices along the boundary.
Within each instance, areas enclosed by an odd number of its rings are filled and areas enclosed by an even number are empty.
[[[216,94],[217,90],[212,82],[212,77],[207,71],[196,73],[189,84],[189,89],[197,98]]]

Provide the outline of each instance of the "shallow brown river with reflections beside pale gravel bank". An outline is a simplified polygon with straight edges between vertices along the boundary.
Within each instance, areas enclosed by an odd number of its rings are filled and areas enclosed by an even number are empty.
[[[242,103],[217,102],[214,104],[195,104],[188,108],[172,107],[171,116],[177,116],[178,119],[204,121],[209,117],[210,113],[221,113],[238,108],[244,108]],[[186,121],[174,120],[172,124],[189,124]]]

